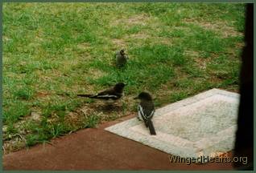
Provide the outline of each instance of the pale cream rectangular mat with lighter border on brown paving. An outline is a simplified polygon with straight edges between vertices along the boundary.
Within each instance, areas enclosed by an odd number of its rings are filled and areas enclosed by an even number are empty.
[[[214,157],[233,149],[238,104],[238,94],[212,89],[157,109],[155,136],[137,118],[105,130],[171,155]]]

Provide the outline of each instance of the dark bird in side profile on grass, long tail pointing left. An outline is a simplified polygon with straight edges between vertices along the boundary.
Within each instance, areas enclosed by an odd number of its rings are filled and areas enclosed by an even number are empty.
[[[96,95],[77,95],[79,97],[88,97],[92,99],[103,99],[103,100],[117,100],[123,95],[123,89],[126,85],[123,82],[118,82],[114,87],[109,88],[105,91],[101,91]]]

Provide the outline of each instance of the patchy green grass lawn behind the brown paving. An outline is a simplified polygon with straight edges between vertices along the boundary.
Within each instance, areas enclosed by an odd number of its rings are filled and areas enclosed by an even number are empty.
[[[149,91],[163,107],[211,88],[238,91],[244,30],[237,3],[4,3],[3,149],[136,112]],[[114,66],[125,48],[130,61]],[[112,110],[76,94],[125,82]]]

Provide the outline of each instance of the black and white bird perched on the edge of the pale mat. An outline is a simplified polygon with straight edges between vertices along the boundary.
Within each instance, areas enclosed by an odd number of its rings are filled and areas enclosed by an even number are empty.
[[[140,99],[140,103],[138,104],[138,119],[144,121],[146,127],[149,128],[151,135],[156,135],[155,127],[151,120],[155,113],[155,106],[151,95],[147,92],[141,92],[134,99]]]

